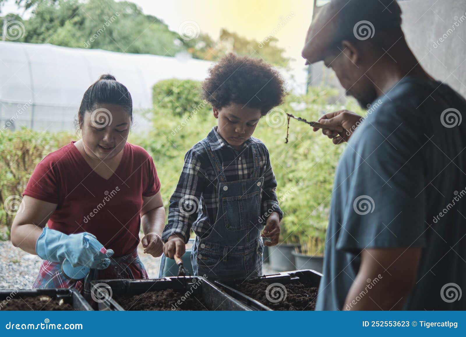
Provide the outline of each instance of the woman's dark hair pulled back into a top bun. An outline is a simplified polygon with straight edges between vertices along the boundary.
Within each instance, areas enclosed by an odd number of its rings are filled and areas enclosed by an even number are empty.
[[[133,100],[128,89],[110,75],[104,74],[94,82],[82,96],[78,112],[78,125],[84,120],[87,111],[96,109],[98,104],[116,104],[123,107],[130,114],[133,121]]]

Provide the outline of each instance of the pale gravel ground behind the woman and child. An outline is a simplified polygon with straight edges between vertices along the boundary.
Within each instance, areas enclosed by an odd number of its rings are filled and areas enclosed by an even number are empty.
[[[141,236],[142,238],[142,236]],[[147,269],[149,278],[158,278],[159,257],[144,254],[141,244],[137,247],[139,258]],[[10,241],[0,241],[0,289],[31,289],[35,281],[42,259],[14,247]],[[264,275],[275,274],[268,263],[262,267]]]

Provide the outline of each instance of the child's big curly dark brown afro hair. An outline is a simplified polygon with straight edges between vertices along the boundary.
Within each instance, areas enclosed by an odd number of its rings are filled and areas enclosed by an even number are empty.
[[[261,116],[280,105],[287,95],[277,69],[261,59],[230,53],[209,69],[202,83],[202,98],[214,108],[231,103],[260,109]]]

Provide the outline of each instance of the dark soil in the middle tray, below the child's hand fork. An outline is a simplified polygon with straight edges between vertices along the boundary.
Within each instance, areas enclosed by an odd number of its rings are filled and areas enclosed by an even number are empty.
[[[184,293],[173,289],[118,296],[115,297],[115,301],[125,310],[207,310],[201,303],[201,296],[197,294],[185,296]]]

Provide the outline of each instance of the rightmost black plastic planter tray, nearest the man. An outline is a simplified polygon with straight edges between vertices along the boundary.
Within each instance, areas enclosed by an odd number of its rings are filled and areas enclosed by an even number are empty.
[[[307,286],[318,288],[321,278],[322,278],[321,273],[318,273],[310,269],[303,269],[303,270],[287,271],[287,272],[282,272],[282,273],[273,274],[273,275],[255,276],[255,277],[251,277],[249,281],[258,280],[258,281],[265,281],[268,284],[281,283],[283,285],[301,282],[303,284],[306,284]],[[215,284],[218,285],[219,288],[225,290],[225,292],[228,295],[241,301],[242,303],[247,305],[247,307],[249,307],[250,309],[273,311],[273,309],[269,308],[267,305],[264,305],[260,303],[259,301],[255,300],[254,298],[243,294],[239,290],[234,289],[233,287],[235,283],[236,283],[235,281],[232,281],[232,282],[215,281]]]

